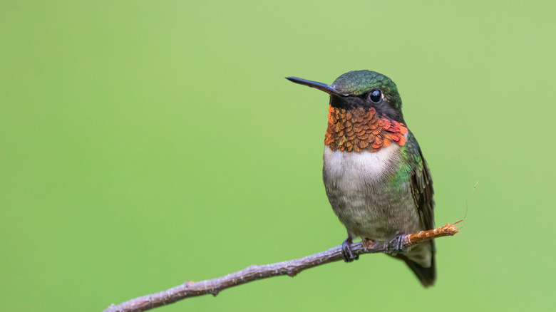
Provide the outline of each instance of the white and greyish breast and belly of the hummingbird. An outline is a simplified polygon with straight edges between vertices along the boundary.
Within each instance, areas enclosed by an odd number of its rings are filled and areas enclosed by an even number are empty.
[[[409,181],[391,187],[390,179],[401,165],[399,149],[396,144],[378,152],[324,147],[326,194],[350,236],[388,239],[418,227]]]

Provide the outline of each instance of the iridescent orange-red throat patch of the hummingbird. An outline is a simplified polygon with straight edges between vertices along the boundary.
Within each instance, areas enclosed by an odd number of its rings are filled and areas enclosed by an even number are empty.
[[[346,152],[378,152],[396,142],[406,144],[407,128],[403,123],[376,117],[376,110],[354,108],[345,110],[329,106],[328,128],[324,136],[324,144],[330,150]]]

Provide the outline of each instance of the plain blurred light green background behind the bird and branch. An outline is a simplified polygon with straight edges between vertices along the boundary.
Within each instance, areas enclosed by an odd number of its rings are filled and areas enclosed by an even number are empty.
[[[401,91],[431,167],[438,282],[362,256],[160,311],[552,308],[554,1],[0,1],[3,311],[110,303],[340,244],[331,83]],[[473,192],[473,186],[478,185]],[[468,208],[466,208],[468,201]]]

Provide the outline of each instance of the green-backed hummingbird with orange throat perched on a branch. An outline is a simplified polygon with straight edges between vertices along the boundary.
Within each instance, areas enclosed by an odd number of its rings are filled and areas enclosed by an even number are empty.
[[[347,229],[344,261],[356,238],[393,241],[423,286],[436,280],[435,245],[401,249],[402,238],[434,228],[433,180],[401,111],[393,81],[374,71],[350,71],[334,83],[288,80],[330,95],[322,177],[334,213]]]

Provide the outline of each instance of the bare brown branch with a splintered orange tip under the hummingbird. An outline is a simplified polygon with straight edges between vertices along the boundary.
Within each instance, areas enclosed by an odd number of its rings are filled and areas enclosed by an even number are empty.
[[[461,222],[461,221],[459,221]],[[401,251],[409,247],[420,244],[423,241],[436,239],[443,236],[453,236],[458,233],[458,229],[454,227],[455,224],[446,224],[443,227],[422,231],[416,234],[408,234],[403,237],[403,246]],[[398,249],[397,241],[369,241],[364,240],[359,243],[351,245],[351,251],[354,256],[360,254],[376,254],[376,253],[395,253],[400,251]],[[139,312],[147,311],[158,306],[164,306],[169,303],[174,303],[185,298],[202,296],[208,293],[216,296],[220,291],[249,283],[249,281],[257,281],[258,279],[266,279],[272,276],[288,275],[296,276],[299,272],[310,269],[314,266],[327,264],[329,262],[339,261],[343,259],[341,256],[341,246],[335,246],[326,251],[312,254],[300,259],[278,262],[275,264],[264,264],[262,266],[248,266],[246,269],[237,271],[226,276],[218,277],[217,279],[208,279],[206,281],[186,281],[184,284],[175,286],[159,293],[152,295],[142,296],[130,301],[115,306],[112,304],[104,310],[104,312]]]

